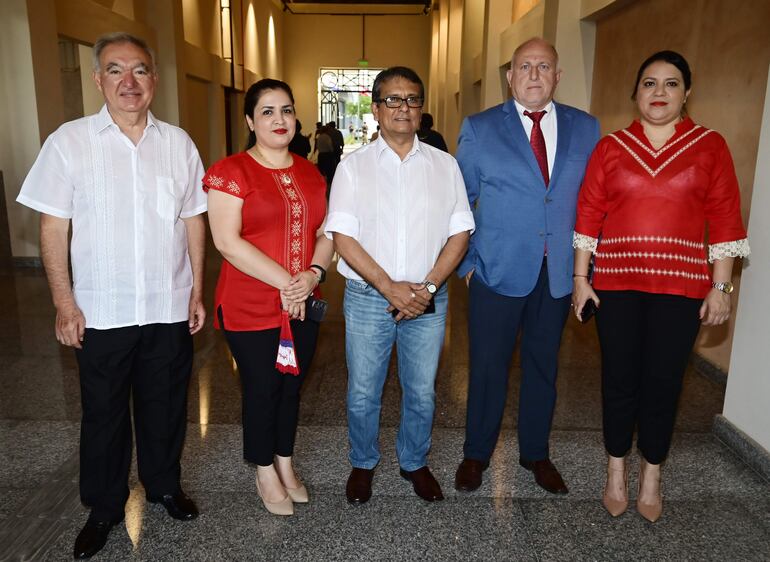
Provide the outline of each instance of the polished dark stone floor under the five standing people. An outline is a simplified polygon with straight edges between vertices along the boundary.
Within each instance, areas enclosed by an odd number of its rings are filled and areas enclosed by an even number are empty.
[[[209,260],[209,289],[217,261]],[[260,506],[253,469],[241,460],[238,375],[223,338],[209,327],[196,336],[183,459],[183,487],[201,516],[179,523],[147,505],[134,475],[125,524],[96,560],[770,560],[770,485],[713,437],[724,388],[692,369],[664,473],[663,518],[651,525],[633,508],[617,519],[603,510],[593,324],[570,320],[560,356],[551,447],[570,494],[550,496],[518,466],[516,360],[504,433],[484,485],[473,494],[455,492],[468,368],[467,296],[456,281],[430,455],[447,499],[423,502],[398,476],[394,371],[385,389],[374,496],[349,505],[341,293],[339,276],[330,273],[331,310],[303,390],[296,463],[311,503],[290,518]],[[40,271],[0,273],[0,560],[69,559],[87,514],[77,491],[77,369],[73,353],[53,337],[53,318]]]

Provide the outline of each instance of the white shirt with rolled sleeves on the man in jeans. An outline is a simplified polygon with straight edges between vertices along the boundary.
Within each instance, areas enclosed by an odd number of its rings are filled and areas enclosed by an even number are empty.
[[[380,136],[334,174],[326,236],[354,238],[393,281],[425,280],[447,239],[473,229],[457,161],[416,135],[403,161]],[[345,260],[337,270],[361,280]]]

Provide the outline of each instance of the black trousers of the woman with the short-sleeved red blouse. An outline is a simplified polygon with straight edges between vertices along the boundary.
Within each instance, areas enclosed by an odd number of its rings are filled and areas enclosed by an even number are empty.
[[[318,323],[293,320],[291,330],[299,364],[296,376],[275,368],[279,328],[252,332],[224,330],[241,376],[243,458],[260,466],[273,464],[273,455],[290,457],[294,452],[299,391],[315,353]]]

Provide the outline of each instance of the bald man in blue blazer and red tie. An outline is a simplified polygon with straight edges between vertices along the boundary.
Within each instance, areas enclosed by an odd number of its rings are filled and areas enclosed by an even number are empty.
[[[567,493],[548,437],[572,292],[575,206],[599,124],[553,102],[558,63],[546,41],[521,44],[507,73],[513,99],[468,117],[460,132],[457,160],[476,220],[458,269],[469,286],[470,342],[461,491],[477,489],[489,465],[521,331],[519,463],[544,489]]]

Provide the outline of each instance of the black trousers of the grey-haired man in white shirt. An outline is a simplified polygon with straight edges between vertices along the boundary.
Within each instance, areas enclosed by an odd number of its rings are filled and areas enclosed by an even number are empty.
[[[133,401],[139,479],[150,496],[179,489],[193,345],[187,322],[85,331],[76,350],[83,417],[80,497],[117,520],[128,499]]]

